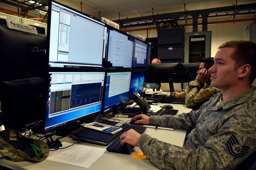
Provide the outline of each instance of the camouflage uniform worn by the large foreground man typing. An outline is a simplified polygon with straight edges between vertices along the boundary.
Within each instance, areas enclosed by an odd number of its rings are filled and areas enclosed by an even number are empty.
[[[221,102],[214,95],[199,110],[150,116],[150,124],[191,130],[184,149],[147,134],[138,145],[160,169],[232,169],[256,151],[256,99],[253,87]]]

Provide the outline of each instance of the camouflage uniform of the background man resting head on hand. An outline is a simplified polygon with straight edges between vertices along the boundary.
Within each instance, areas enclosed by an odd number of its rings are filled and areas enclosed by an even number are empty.
[[[186,91],[180,93],[181,97],[185,97],[185,104],[187,107],[199,108],[204,102],[208,101],[213,95],[220,92],[220,89],[212,87],[211,84],[207,84],[204,88],[201,88],[199,81],[189,82],[189,86]]]

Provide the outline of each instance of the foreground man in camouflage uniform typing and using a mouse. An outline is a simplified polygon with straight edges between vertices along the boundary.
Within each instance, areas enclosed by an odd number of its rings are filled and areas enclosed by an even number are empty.
[[[175,116],[138,115],[135,123],[191,130],[184,148],[128,130],[120,141],[140,147],[160,169],[232,169],[256,151],[256,43],[228,41],[214,57],[211,84],[221,89],[199,110]]]

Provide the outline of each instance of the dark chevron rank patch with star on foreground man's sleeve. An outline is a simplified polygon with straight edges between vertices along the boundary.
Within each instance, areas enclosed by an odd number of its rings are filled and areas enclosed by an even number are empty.
[[[249,151],[250,147],[241,146],[237,141],[235,135],[231,135],[231,137],[226,142],[226,148],[229,155],[233,158],[243,158],[245,154]]]

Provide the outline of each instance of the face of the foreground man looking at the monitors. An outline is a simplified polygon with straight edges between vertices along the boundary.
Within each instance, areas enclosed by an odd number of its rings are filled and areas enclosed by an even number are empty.
[[[227,90],[238,80],[238,71],[235,70],[235,60],[231,58],[234,48],[221,48],[214,57],[211,72],[211,85],[221,90]]]

